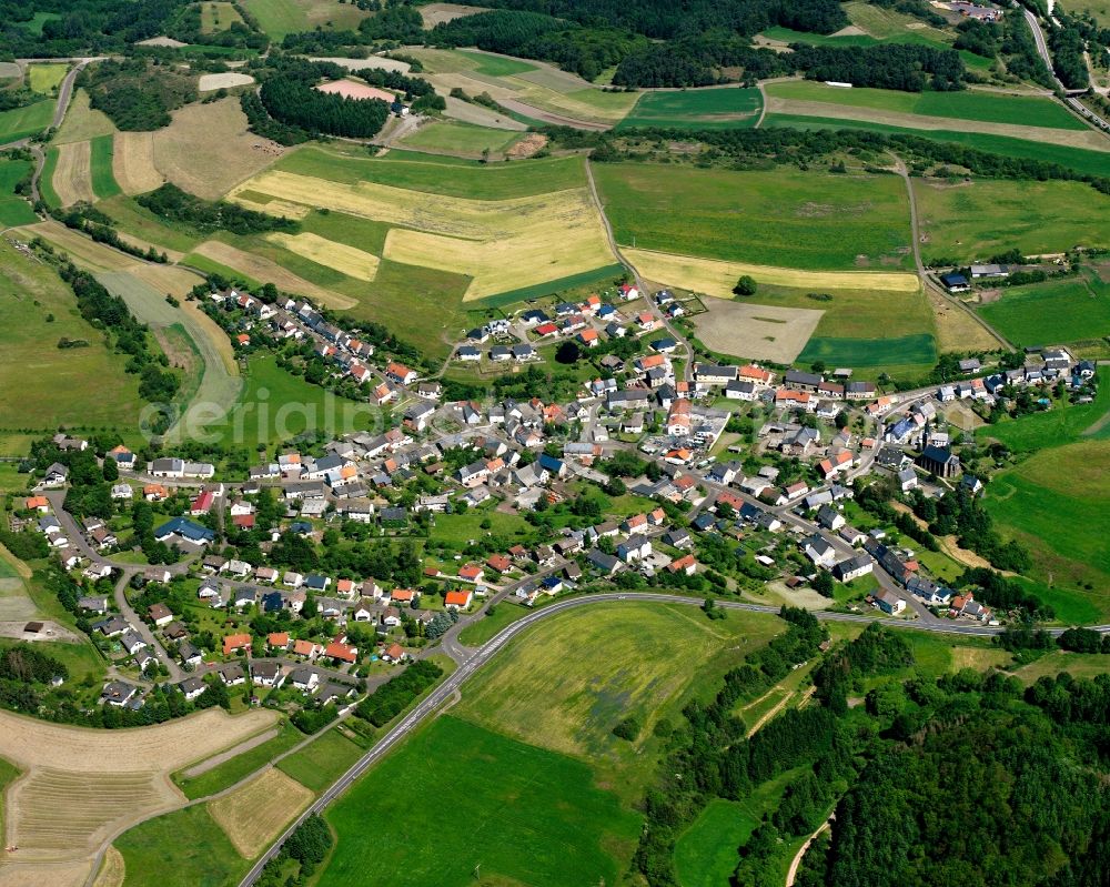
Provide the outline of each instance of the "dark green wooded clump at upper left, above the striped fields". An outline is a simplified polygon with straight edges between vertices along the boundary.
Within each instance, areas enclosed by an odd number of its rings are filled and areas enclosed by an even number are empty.
[[[147,59],[108,60],[84,69],[78,84],[89,103],[121,130],[157,130],[170,123],[170,111],[196,100],[196,87],[185,73]]]

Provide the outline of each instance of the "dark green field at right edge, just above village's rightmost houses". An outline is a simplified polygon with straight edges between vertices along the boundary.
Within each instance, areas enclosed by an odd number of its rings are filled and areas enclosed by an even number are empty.
[[[978,312],[1018,346],[1110,335],[1110,284],[1093,275],[1003,288]]]

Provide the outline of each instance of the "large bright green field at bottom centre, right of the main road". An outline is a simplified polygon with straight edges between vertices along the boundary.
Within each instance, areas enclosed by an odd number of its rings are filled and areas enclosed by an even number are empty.
[[[325,815],[339,840],[320,887],[463,887],[478,867],[496,884],[617,884],[642,822],[594,785],[586,764],[452,715],[422,727]]]

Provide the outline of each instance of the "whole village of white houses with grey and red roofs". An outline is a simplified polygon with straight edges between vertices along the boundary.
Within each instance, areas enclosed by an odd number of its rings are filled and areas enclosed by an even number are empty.
[[[997,625],[1005,613],[950,587],[912,537],[855,502],[857,491],[881,482],[906,501],[973,498],[989,478],[962,470],[950,407],[989,411],[1045,386],[1079,402],[1094,384],[1093,364],[1051,349],[1009,369],[965,360],[959,381],[879,394],[848,369],[684,362],[678,342],[656,337],[663,321],[637,312],[635,355],[605,355],[608,374],[573,400],[444,402],[440,381],[374,363],[372,345],[309,302],[275,306],[233,291],[212,301],[251,319],[241,336],[264,324],[269,336],[313,342],[335,373],[391,403],[394,420],[311,452],[282,447],[240,477],[115,446],[97,454],[115,477],[107,518],[65,511],[67,460],[90,442],[57,435],[58,460],[12,528],[43,534],[85,589],[81,616],[121,675],[103,688],[108,705],[140,708],[150,682],[167,677],[188,700],[218,681],[255,704],[344,705],[393,666],[457,644],[461,619],[614,585],[759,601],[771,583],[785,595],[774,599],[818,592],[823,606],[879,617]],[[666,291],[654,303],[670,317],[679,304]],[[584,349],[626,334],[596,296],[552,313],[528,309],[472,331],[455,356],[534,360],[527,342],[488,344],[514,329]],[[620,512],[607,513],[614,500]],[[152,534],[171,563],[128,558],[137,502],[164,516]],[[437,524],[467,514],[485,515],[467,523],[472,537],[437,540]],[[487,530],[494,518],[514,534]],[[408,563],[389,575],[361,573],[354,557],[335,572],[291,565],[341,541],[408,546]]]

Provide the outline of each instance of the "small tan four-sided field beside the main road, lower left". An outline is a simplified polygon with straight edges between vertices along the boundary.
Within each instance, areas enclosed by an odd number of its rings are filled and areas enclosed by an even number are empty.
[[[208,808],[240,855],[253,859],[314,797],[293,777],[271,767],[231,794],[209,802]]]

